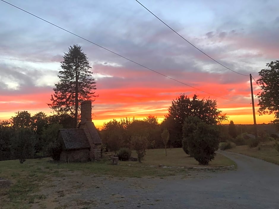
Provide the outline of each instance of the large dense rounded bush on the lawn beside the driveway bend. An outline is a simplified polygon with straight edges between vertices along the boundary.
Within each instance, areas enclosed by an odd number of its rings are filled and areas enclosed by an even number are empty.
[[[200,165],[207,165],[214,159],[219,134],[217,125],[206,124],[198,117],[188,117],[183,125],[183,137],[188,143],[189,153]]]

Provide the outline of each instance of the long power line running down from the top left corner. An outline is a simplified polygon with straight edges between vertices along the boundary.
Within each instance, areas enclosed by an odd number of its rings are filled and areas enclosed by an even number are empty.
[[[113,53],[113,54],[115,54],[115,55],[118,55],[119,57],[122,57],[122,58],[124,58],[124,59],[126,59],[126,60],[129,60],[129,61],[132,62],[132,63],[135,63],[135,64],[137,64],[137,65],[139,65],[139,66],[142,66],[143,68],[146,68],[146,69],[148,69],[148,70],[150,70],[150,71],[153,71],[154,73],[157,73],[157,74],[159,74],[159,75],[161,75],[161,76],[164,76],[164,77],[166,77],[166,78],[172,79],[173,81],[179,82],[179,83],[181,83],[181,84],[183,84],[183,85],[186,85],[186,86],[188,86],[188,87],[194,88],[194,89],[199,90],[199,91],[201,91],[201,92],[205,92],[205,93],[207,93],[207,94],[213,95],[213,96],[218,97],[218,98],[221,98],[221,99],[229,100],[229,101],[232,101],[232,102],[238,102],[238,103],[246,103],[246,102],[239,102],[239,101],[234,101],[234,100],[230,100],[230,99],[227,99],[227,98],[223,98],[223,97],[217,96],[217,95],[215,95],[215,94],[212,94],[212,93],[203,91],[203,90],[201,90],[201,89],[198,89],[198,88],[196,88],[196,87],[193,87],[193,86],[191,86],[191,85],[188,85],[188,84],[186,84],[186,83],[183,83],[183,82],[181,82],[181,81],[178,81],[178,80],[176,80],[176,79],[173,79],[173,78],[171,78],[171,77],[169,77],[169,76],[167,76],[167,75],[164,75],[164,74],[162,74],[162,73],[160,73],[160,72],[158,72],[158,71],[152,70],[152,69],[150,69],[150,68],[148,68],[148,67],[146,67],[146,66],[144,66],[144,65],[142,65],[142,64],[139,64],[139,63],[137,63],[137,62],[135,62],[135,61],[133,61],[133,60],[130,60],[129,58],[126,58],[126,57],[124,57],[124,56],[122,56],[122,55],[120,55],[120,54],[118,54],[118,53],[116,53],[116,52],[113,52],[113,51],[111,51],[111,50],[109,50],[109,49],[107,49],[107,48],[105,48],[105,47],[102,47],[102,46],[100,46],[99,44],[96,44],[96,43],[94,43],[94,42],[91,42],[91,41],[89,41],[88,39],[85,39],[85,38],[83,38],[83,37],[81,37],[81,36],[79,36],[79,35],[77,35],[77,34],[75,34],[75,33],[72,33],[72,32],[70,32],[70,31],[68,31],[68,30],[66,30],[66,29],[64,29],[64,28],[61,28],[61,27],[59,27],[58,25],[55,25],[55,24],[53,24],[53,23],[51,23],[51,22],[49,22],[49,21],[47,21],[47,20],[45,20],[45,19],[43,19],[43,18],[41,18],[41,17],[38,17],[38,16],[36,16],[36,15],[30,13],[30,12],[27,12],[26,10],[21,9],[20,7],[17,7],[17,6],[15,6],[15,5],[13,5],[13,4],[10,4],[10,3],[7,2],[7,1],[4,1],[4,0],[1,0],[1,1],[3,1],[3,2],[5,2],[5,3],[7,3],[7,4],[9,4],[9,5],[11,5],[11,6],[17,8],[17,9],[20,9],[21,11],[26,12],[26,13],[28,13],[29,15],[32,15],[32,16],[34,16],[34,17],[37,17],[37,18],[39,18],[40,20],[43,20],[43,21],[45,21],[45,22],[47,22],[47,23],[49,23],[49,24],[51,24],[51,25],[53,25],[53,26],[55,26],[55,27],[57,27],[57,28],[60,28],[60,29],[63,30],[63,31],[66,31],[66,32],[68,32],[68,33],[71,33],[71,34],[74,35],[74,36],[77,36],[77,37],[79,37],[79,38],[81,38],[81,39],[83,39],[83,40],[85,40],[85,41],[87,41],[87,42],[90,42],[91,44],[94,44],[94,45],[96,45],[96,46],[98,46],[98,47],[101,47],[101,48],[104,49],[104,50],[107,50],[107,51],[109,51],[109,52],[111,52],[111,53]]]

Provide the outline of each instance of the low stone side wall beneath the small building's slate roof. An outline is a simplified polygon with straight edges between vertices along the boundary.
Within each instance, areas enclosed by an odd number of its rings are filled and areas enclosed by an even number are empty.
[[[89,149],[63,150],[60,154],[60,161],[64,162],[86,162],[90,160]]]

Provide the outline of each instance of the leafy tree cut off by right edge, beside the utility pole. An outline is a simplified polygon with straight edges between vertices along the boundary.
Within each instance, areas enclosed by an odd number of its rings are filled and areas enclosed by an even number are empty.
[[[275,114],[275,118],[279,119],[279,60],[266,64],[268,69],[262,69],[259,72],[261,76],[257,82],[261,86],[262,92],[258,93],[259,113]]]

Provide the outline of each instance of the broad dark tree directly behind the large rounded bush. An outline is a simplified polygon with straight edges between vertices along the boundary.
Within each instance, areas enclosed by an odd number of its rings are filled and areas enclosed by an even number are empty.
[[[194,95],[191,100],[187,95],[180,94],[178,98],[172,100],[165,120],[165,124],[168,124],[167,128],[170,130],[170,138],[177,141],[175,147],[182,146],[182,126],[188,116],[198,117],[207,124],[220,124],[227,120],[226,115],[217,109],[216,100],[199,100],[197,95]]]

